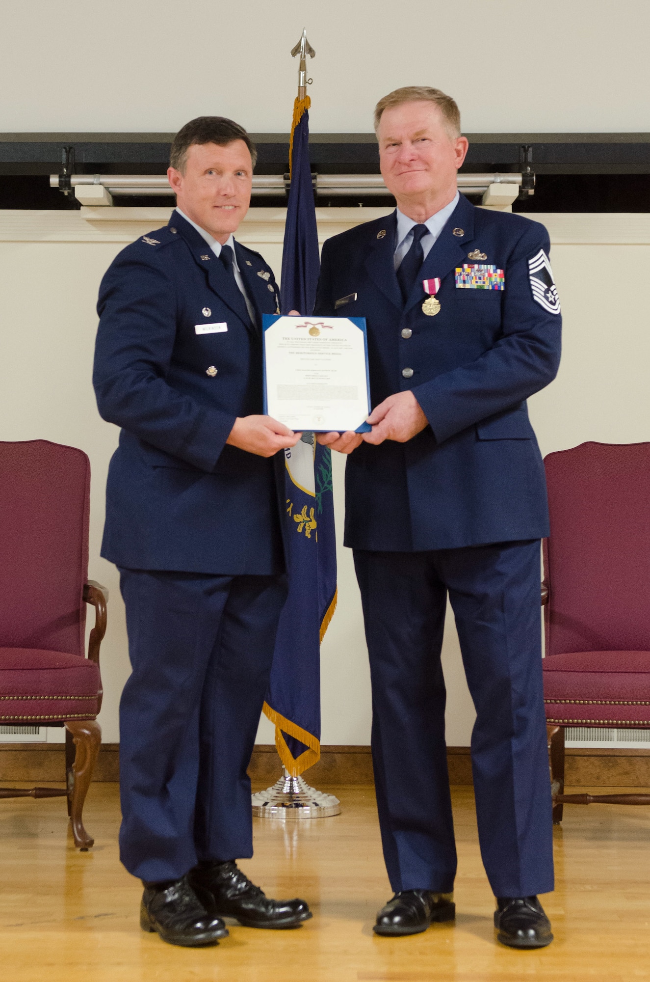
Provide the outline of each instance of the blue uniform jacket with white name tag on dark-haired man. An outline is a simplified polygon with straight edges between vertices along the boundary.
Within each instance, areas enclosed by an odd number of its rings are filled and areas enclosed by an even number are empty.
[[[236,416],[263,411],[261,314],[279,306],[270,267],[236,250],[254,324],[223,263],[176,211],[102,280],[93,384],[102,417],[122,432],[101,554],[118,566],[284,572],[283,455],[226,445]],[[207,324],[220,329],[201,333]]]

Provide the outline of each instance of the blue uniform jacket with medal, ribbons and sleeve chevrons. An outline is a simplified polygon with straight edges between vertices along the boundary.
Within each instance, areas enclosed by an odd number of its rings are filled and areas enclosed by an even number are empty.
[[[533,299],[529,279],[528,260],[540,249],[548,255],[546,229],[460,196],[406,305],[393,266],[396,233],[392,215],[323,246],[314,312],[365,317],[372,406],[410,389],[429,422],[406,444],[353,451],[346,545],[411,552],[548,535],[544,468],[525,402],[560,361],[561,317]],[[457,287],[456,269],[476,262],[504,270],[505,289]],[[427,316],[422,280],[434,277],[441,309]]]

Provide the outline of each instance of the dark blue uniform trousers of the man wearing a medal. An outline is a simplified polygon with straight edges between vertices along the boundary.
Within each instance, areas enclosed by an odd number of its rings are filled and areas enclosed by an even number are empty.
[[[393,890],[454,888],[441,665],[447,594],[476,709],[478,838],[497,897],[553,890],[539,540],[354,551],[372,681],[372,759]]]

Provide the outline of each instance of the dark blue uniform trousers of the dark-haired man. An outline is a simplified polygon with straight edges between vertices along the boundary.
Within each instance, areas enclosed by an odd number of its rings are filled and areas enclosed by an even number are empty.
[[[250,760],[287,577],[120,570],[120,855],[142,880],[252,855]]]

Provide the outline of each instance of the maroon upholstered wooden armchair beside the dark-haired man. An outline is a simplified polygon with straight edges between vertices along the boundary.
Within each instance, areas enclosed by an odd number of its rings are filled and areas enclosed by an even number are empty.
[[[67,789],[0,789],[0,797],[67,795],[75,845],[101,731],[99,645],[107,591],[87,579],[90,463],[47,440],[0,442],[0,724],[66,728]],[[85,605],[95,607],[88,657]]]

